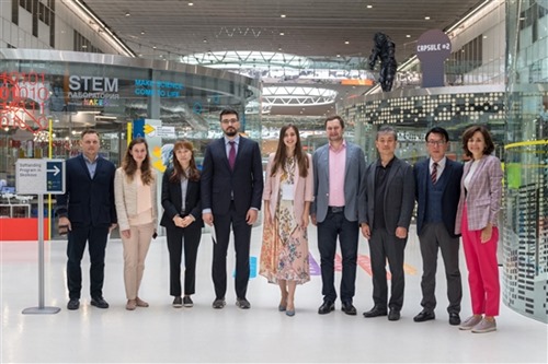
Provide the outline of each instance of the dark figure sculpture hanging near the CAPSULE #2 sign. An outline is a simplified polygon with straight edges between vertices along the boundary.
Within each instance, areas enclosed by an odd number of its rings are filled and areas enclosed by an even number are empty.
[[[375,45],[369,56],[369,69],[375,69],[377,59],[380,59],[378,82],[383,91],[390,91],[392,90],[393,78],[396,77],[396,70],[398,68],[396,63],[396,45],[390,37],[384,33],[375,33],[373,39],[375,40]]]

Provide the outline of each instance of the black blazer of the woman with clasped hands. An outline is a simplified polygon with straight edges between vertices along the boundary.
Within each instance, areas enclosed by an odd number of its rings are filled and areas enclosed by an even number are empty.
[[[165,227],[176,227],[173,223],[173,218],[181,214],[182,211],[182,196],[181,183],[170,181],[170,176],[173,174],[173,167],[168,168],[162,177],[162,207],[163,214],[160,220],[160,225]],[[189,180],[186,187],[186,198],[184,201],[186,214],[191,214],[196,219],[194,224],[204,226],[202,220],[202,202],[199,197],[199,180]]]

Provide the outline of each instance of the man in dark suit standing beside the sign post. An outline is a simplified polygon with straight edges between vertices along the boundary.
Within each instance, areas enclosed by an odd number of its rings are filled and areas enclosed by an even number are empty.
[[[104,256],[109,233],[116,226],[114,204],[114,174],[112,162],[99,155],[99,133],[82,131],[82,153],[66,162],[66,192],[58,195],[57,215],[59,233],[68,234],[67,283],[68,309],[80,307],[82,289],[81,260],[85,244],[90,254],[91,305],[109,308],[103,298]]]

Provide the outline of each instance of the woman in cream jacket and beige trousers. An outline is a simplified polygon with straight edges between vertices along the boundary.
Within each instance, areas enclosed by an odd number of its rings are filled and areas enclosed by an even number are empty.
[[[126,309],[148,307],[148,303],[139,298],[138,293],[145,270],[145,258],[152,235],[156,234],[158,208],[156,176],[147,141],[142,138],[132,140],[122,167],[116,169],[114,198],[124,245]]]

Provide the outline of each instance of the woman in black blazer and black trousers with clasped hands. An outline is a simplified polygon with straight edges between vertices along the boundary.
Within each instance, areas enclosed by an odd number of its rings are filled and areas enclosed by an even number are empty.
[[[184,199],[183,199],[184,196]],[[163,215],[160,225],[165,227],[170,255],[170,294],[173,307],[192,307],[195,293],[196,257],[202,238],[202,202],[199,198],[199,171],[194,160],[193,145],[178,141],[173,146],[173,167],[162,178]],[[184,296],[181,290],[181,255],[184,246]]]

